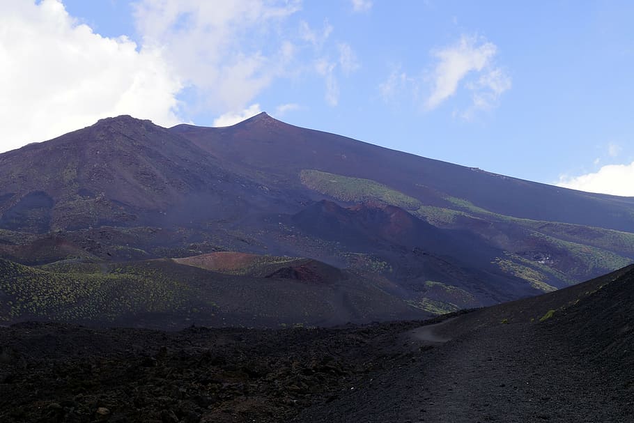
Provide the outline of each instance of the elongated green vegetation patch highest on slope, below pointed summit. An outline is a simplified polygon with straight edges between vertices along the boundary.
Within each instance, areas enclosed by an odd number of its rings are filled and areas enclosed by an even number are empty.
[[[300,180],[311,190],[330,195],[330,197],[341,201],[379,200],[392,206],[405,208],[405,210],[417,210],[422,205],[414,197],[409,197],[371,179],[352,178],[304,169],[300,172]]]

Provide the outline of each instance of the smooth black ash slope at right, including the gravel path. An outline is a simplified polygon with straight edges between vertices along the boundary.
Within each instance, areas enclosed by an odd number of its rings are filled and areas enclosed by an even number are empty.
[[[552,307],[552,308],[551,308]],[[634,422],[634,267],[458,316],[297,422]],[[431,349],[429,349],[431,348]]]

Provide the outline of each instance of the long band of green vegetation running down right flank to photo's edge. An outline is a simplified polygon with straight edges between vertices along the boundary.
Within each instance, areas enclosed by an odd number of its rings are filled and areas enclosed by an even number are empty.
[[[493,222],[505,222],[523,226],[531,236],[545,241],[553,249],[562,249],[578,262],[576,268],[566,269],[566,274],[545,263],[534,263],[525,259],[500,259],[498,265],[529,282],[543,292],[555,288],[548,284],[549,279],[560,279],[574,283],[575,279],[594,275],[598,272],[616,270],[632,263],[632,258],[617,254],[625,252],[634,256],[634,233],[612,231],[610,229],[590,228],[582,225],[543,222],[493,213],[474,205],[466,199],[444,197],[453,208],[423,205],[419,200],[402,192],[393,190],[374,180],[352,178],[329,174],[317,170],[300,172],[302,183],[312,190],[330,195],[341,201],[378,200],[409,210],[430,224],[447,227],[456,224],[460,217],[484,218]],[[509,247],[509,246],[507,246]],[[512,249],[513,247],[510,246]]]

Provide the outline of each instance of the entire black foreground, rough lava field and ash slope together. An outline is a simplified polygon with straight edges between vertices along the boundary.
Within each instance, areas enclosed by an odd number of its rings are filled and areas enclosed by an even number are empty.
[[[631,422],[633,305],[629,267],[454,316],[436,327],[453,338],[440,346],[411,337],[421,322],[171,333],[22,323],[0,328],[0,418]]]

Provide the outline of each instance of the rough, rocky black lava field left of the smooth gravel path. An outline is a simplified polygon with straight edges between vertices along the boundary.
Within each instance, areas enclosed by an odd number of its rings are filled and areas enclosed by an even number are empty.
[[[287,330],[0,329],[0,422],[284,422],[386,371],[421,322]],[[107,409],[107,410],[105,410]]]

